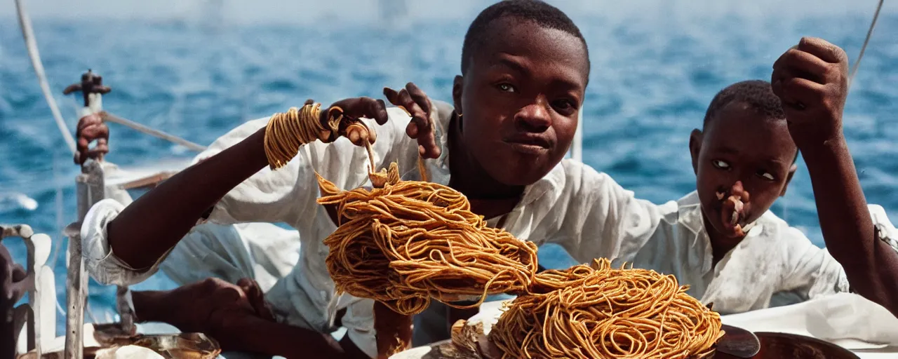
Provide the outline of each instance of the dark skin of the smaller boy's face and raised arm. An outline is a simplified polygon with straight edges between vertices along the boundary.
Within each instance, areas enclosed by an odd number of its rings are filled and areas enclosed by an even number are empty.
[[[823,241],[844,268],[852,291],[898,316],[898,254],[874,231],[841,130],[847,73],[848,57],[841,48],[823,39],[802,39],[773,66],[771,84],[786,121],[750,118],[760,115],[732,103],[711,118],[704,133],[692,132],[690,152],[705,228],[717,263],[744,238],[726,223],[733,207],[722,204],[717,192],[750,193],[739,223],[753,223],[785,194],[796,171],[797,148],[811,175]],[[742,188],[736,188],[737,181]]]

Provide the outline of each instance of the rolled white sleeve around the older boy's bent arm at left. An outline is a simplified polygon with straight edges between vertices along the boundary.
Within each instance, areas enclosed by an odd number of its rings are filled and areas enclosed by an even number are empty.
[[[393,150],[409,147],[414,140],[405,136],[408,115],[401,109],[388,109],[390,121],[378,126],[374,120],[363,119],[368,127],[377,127],[374,143],[375,162],[391,158]],[[240,143],[268,124],[269,118],[248,121],[219,137],[206,151],[198,154],[194,163]],[[417,151],[417,147],[415,149]],[[417,153],[417,152],[415,152]],[[244,180],[222,197],[213,208],[208,221],[232,223],[287,223],[295,228],[303,220],[313,219],[318,204],[318,183],[314,172],[334,182],[339,188],[355,188],[367,180],[367,153],[362,147],[339,138],[331,144],[305,144],[293,160],[283,168],[272,171],[268,167]],[[174,204],[173,206],[177,206]],[[102,284],[133,285],[152,276],[166,252],[154,266],[132,268],[117,258],[106,237],[106,226],[124,206],[112,199],[94,205],[82,224],[82,255],[91,275]],[[200,221],[203,222],[203,221]],[[307,222],[306,224],[309,224]],[[309,224],[311,225],[311,224]]]

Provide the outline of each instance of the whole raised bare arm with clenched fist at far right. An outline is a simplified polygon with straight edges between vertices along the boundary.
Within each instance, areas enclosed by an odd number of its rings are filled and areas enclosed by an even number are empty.
[[[898,315],[898,253],[878,238],[842,133],[848,57],[823,39],[801,39],[774,64],[771,84],[811,175],[827,249],[855,293]]]

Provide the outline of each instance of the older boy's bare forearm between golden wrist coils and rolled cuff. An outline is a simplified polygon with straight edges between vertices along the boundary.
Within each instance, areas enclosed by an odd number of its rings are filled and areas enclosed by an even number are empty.
[[[107,227],[112,251],[131,267],[152,266],[208,208],[268,164],[264,139],[262,128],[137,198]]]

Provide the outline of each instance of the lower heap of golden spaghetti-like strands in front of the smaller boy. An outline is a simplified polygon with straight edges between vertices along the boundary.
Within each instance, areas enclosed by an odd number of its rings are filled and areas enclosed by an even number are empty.
[[[723,337],[674,276],[597,259],[537,277],[548,291],[517,297],[489,333],[502,358],[705,358]]]

